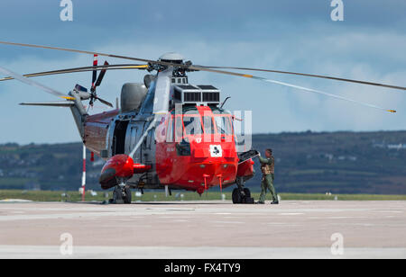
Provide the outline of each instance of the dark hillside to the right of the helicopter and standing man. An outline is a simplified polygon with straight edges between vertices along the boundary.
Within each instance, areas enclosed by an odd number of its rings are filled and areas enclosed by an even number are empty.
[[[273,148],[281,192],[406,194],[405,131],[281,133],[253,140],[254,148]]]

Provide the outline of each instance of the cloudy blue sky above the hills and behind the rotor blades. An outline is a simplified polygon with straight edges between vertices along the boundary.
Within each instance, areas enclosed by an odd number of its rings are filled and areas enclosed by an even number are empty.
[[[0,40],[157,59],[179,52],[196,65],[260,67],[406,86],[406,1],[343,0],[334,22],[331,0],[72,0],[73,21],[60,20],[60,0],[2,0]],[[20,74],[92,65],[93,57],[0,45],[0,66]],[[104,58],[99,58],[99,63]],[[128,63],[107,58],[110,64]],[[97,90],[111,103],[143,71],[110,71]],[[197,72],[195,85],[215,85],[230,111],[252,111],[254,133],[405,130],[406,93],[303,76],[255,73],[281,82],[397,110],[395,114],[294,88]],[[89,86],[91,73],[42,76],[68,94]],[[79,141],[69,109],[20,106],[58,101],[17,81],[0,83],[0,143]],[[93,113],[106,109],[97,103]]]

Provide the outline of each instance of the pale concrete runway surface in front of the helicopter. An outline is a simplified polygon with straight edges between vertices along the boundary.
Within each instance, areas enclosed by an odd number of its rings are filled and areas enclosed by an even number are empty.
[[[406,201],[0,203],[0,258],[406,258],[405,212]]]

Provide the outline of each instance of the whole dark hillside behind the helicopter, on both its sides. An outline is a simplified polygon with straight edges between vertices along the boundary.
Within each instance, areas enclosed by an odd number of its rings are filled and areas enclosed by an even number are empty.
[[[279,192],[406,194],[406,131],[262,134],[253,147],[272,147]],[[0,189],[77,190],[81,150],[80,143],[0,145]],[[102,166],[88,161],[89,189],[99,190]],[[247,185],[257,191],[255,169]]]

